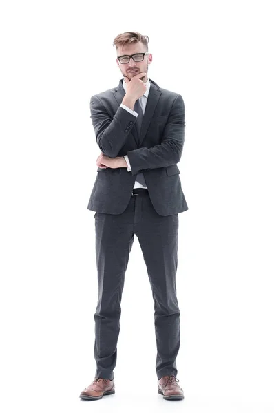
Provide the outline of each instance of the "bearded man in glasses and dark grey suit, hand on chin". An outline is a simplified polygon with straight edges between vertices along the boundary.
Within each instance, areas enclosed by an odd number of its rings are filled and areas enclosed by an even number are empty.
[[[156,374],[164,399],[183,399],[176,379],[180,310],[176,297],[178,213],[188,209],[176,165],[182,156],[185,106],[180,94],[148,78],[149,39],[125,32],[114,39],[118,87],[90,101],[101,149],[87,209],[96,211],[98,304],[95,319],[95,379],[80,394],[114,394],[120,301],[129,253],[138,237],[154,297]]]

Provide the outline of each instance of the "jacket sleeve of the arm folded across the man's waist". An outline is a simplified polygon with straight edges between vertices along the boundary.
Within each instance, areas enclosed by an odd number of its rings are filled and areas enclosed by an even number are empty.
[[[185,104],[182,96],[178,94],[171,107],[160,145],[127,152],[131,174],[136,175],[136,173],[150,169],[177,164],[182,156],[184,140]]]

